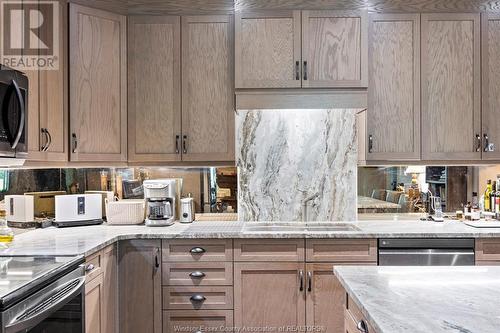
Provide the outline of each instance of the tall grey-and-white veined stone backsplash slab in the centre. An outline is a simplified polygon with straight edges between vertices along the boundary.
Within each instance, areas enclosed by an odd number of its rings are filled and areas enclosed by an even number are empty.
[[[356,219],[356,110],[238,110],[236,154],[240,220]]]

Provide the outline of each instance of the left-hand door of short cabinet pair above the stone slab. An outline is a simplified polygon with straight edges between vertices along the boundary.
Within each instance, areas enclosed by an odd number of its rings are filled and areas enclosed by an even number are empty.
[[[236,88],[301,86],[300,11],[236,12]]]

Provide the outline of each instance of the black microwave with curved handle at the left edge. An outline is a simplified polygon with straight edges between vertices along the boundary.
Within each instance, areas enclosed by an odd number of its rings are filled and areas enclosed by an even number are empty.
[[[0,157],[28,155],[28,77],[0,65]]]

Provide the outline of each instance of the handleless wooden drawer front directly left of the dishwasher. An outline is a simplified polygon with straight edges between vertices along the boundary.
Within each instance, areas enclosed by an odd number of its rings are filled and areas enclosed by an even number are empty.
[[[307,239],[308,262],[377,262],[376,239]]]

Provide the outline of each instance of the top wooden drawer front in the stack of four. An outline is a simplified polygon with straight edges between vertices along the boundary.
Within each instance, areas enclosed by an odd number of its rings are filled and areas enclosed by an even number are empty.
[[[232,261],[231,239],[176,239],[163,241],[163,261]]]

